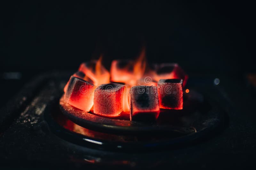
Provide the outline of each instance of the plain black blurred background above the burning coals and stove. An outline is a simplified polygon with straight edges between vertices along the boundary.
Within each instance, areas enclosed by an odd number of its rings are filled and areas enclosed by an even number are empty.
[[[178,62],[187,72],[255,71],[254,9],[243,2],[1,2],[2,71],[76,69],[104,54]]]

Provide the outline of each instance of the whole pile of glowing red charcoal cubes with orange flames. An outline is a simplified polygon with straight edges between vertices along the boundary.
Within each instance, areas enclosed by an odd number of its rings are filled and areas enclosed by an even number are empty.
[[[99,60],[84,62],[64,87],[68,104],[93,114],[131,120],[157,119],[160,109],[183,109],[188,75],[176,63],[146,62],[145,48],[137,60],[113,60],[110,72]]]

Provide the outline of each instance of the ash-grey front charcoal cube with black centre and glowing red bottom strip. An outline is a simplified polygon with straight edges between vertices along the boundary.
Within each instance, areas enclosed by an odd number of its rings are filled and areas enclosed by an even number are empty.
[[[156,120],[160,109],[156,86],[134,86],[130,92],[130,119],[139,121]]]

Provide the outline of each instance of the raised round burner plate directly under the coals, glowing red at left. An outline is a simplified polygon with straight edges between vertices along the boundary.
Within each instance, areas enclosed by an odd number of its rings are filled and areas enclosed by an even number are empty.
[[[216,124],[220,123],[221,120],[221,113],[217,110],[214,110],[216,108],[212,107],[207,108],[208,111],[201,110],[198,111],[199,117],[194,116],[193,114],[197,111],[196,107],[207,107],[205,106],[205,102],[201,103],[199,102],[199,99],[195,96],[200,96],[197,92],[190,93],[194,94],[194,101],[191,101],[189,99],[189,96],[184,97],[184,110],[162,110],[159,116],[160,120],[157,120],[157,122],[154,123],[145,123],[145,122],[137,122],[137,121],[129,121],[129,120],[118,120],[108,117],[101,117],[97,116],[88,112],[84,112],[82,110],[79,110],[68,103],[65,102],[64,96],[60,98],[60,110],[62,113],[68,117],[71,121],[74,123],[84,127],[88,128],[94,131],[100,131],[100,132],[106,132],[111,134],[144,134],[144,133],[179,133],[179,134],[190,134],[195,133],[196,131],[200,131],[204,128],[209,128],[210,126],[215,126]],[[196,104],[195,104],[196,103]],[[187,104],[187,105],[186,105]],[[209,103],[207,103],[210,105]],[[187,108],[187,110],[186,110]],[[192,113],[192,114],[191,114]],[[174,117],[170,115],[174,115]],[[163,117],[161,120],[161,117]],[[192,115],[192,116],[191,116]],[[180,116],[183,116],[184,119],[188,120],[182,120],[180,124],[172,124],[169,122],[164,122],[163,119],[180,119]],[[203,117],[204,116],[204,117]],[[166,118],[167,117],[167,118]],[[192,121],[193,119],[202,119],[201,124],[194,124]],[[192,121],[191,121],[192,120]],[[211,122],[211,123],[209,123]],[[186,124],[189,124],[189,126],[186,126]],[[204,124],[202,126],[202,124]],[[191,128],[194,127],[194,128]]]

